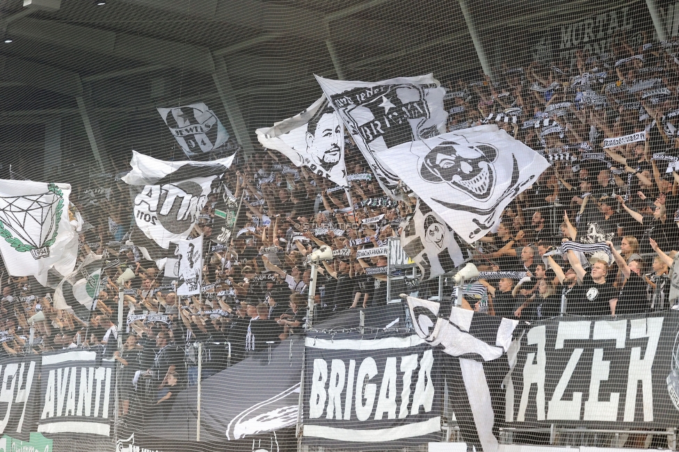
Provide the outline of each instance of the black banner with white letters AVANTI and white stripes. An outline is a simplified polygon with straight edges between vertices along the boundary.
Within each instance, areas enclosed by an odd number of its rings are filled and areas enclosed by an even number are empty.
[[[113,423],[113,360],[74,350],[42,355],[38,432],[109,436]]]

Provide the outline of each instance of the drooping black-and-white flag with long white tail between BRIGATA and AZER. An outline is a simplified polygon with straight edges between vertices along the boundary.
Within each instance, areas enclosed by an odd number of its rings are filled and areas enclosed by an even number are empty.
[[[497,451],[493,435],[495,413],[482,362],[496,360],[509,349],[518,321],[451,307],[442,316],[439,302],[408,297],[410,318],[417,335],[444,353],[460,358],[460,367],[479,440],[484,452]]]

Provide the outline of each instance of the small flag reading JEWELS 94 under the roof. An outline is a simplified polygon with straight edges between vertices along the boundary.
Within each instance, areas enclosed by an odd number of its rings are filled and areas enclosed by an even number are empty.
[[[214,111],[202,102],[175,108],[158,108],[158,113],[186,156],[211,152],[229,139],[228,132]]]

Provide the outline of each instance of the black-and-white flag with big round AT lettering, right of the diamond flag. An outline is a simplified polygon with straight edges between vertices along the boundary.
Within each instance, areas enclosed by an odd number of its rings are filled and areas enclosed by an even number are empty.
[[[134,202],[131,240],[146,259],[163,268],[170,242],[189,236],[218,175],[233,158],[168,162],[133,152],[132,170],[122,180]]]

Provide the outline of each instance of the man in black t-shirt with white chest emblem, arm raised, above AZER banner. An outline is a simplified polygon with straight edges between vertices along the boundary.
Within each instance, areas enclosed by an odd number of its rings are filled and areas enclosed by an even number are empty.
[[[573,250],[568,250],[568,261],[577,275],[577,289],[568,297],[568,314],[582,316],[606,316],[612,314],[611,300],[616,296],[612,282],[606,281],[608,264],[595,259],[591,272],[587,273]],[[572,300],[571,300],[572,298]]]

